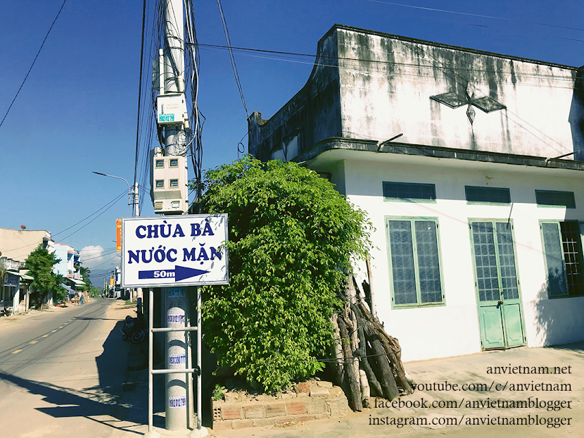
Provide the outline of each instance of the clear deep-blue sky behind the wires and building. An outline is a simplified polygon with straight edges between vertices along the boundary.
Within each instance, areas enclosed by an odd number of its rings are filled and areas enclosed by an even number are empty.
[[[2,2],[0,120],[62,3]],[[147,4],[151,23],[155,0]],[[217,2],[194,4],[198,42],[224,45]],[[523,58],[584,64],[584,31],[577,30],[584,28],[580,0],[223,0],[222,6],[231,44],[239,47],[315,54],[318,40],[339,23]],[[0,227],[49,230],[55,242],[85,248],[85,265],[92,268],[98,287],[103,275],[119,264],[112,252],[115,219],[132,213],[127,196],[99,211],[127,186],[91,171],[134,180],[141,20],[138,0],[66,1],[0,127]],[[260,111],[263,118],[303,87],[313,62],[253,52],[235,57],[248,111]],[[208,169],[237,158],[237,144],[247,132],[246,113],[227,51],[201,47],[200,81],[199,107],[206,117],[203,169]],[[103,214],[71,227],[96,211]],[[148,196],[141,215],[153,215]]]

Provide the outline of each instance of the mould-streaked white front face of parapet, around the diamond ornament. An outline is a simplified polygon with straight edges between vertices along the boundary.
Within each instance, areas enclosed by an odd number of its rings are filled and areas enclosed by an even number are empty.
[[[576,68],[350,28],[337,31],[343,137],[554,157],[583,149]],[[355,58],[375,62],[352,61]],[[484,113],[430,99],[489,96]],[[584,153],[580,154],[584,159]]]

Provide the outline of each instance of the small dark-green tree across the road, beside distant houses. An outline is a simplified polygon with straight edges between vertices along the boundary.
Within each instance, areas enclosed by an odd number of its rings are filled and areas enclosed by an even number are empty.
[[[25,268],[29,270],[28,275],[34,279],[30,287],[34,290],[31,301],[35,304],[42,304],[48,294],[59,290],[62,280],[53,273],[53,266],[59,262],[55,254],[49,253],[42,245],[37,246],[37,249],[27,257]]]

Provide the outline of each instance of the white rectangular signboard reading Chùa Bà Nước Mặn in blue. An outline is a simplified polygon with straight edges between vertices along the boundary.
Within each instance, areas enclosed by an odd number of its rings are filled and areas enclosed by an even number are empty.
[[[122,218],[122,287],[228,284],[227,214]]]

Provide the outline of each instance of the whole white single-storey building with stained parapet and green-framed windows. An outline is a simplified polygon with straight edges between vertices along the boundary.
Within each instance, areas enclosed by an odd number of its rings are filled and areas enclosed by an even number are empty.
[[[367,211],[405,361],[584,339],[584,68],[336,25],[249,126]]]

